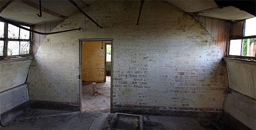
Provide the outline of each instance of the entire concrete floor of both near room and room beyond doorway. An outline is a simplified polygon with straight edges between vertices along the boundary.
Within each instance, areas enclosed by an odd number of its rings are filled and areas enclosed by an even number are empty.
[[[92,82],[82,85],[82,112],[29,109],[0,126],[1,130],[110,130],[110,76],[97,83],[98,96],[92,95]],[[216,118],[186,118],[143,115],[143,130],[232,130]]]

